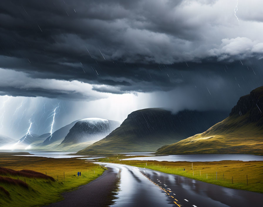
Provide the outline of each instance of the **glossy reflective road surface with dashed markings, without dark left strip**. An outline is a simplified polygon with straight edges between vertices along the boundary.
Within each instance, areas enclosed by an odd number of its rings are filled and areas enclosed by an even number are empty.
[[[121,170],[114,207],[131,206],[262,206],[263,194],[235,190],[145,168],[98,163]]]

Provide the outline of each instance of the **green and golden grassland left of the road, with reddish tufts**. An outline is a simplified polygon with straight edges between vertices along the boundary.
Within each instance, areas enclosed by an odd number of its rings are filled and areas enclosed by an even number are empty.
[[[0,167],[0,206],[9,207],[43,206],[62,200],[62,192],[89,183],[104,172],[104,168],[81,159],[7,153],[0,153],[0,166],[4,167]],[[77,177],[78,171],[81,177]]]

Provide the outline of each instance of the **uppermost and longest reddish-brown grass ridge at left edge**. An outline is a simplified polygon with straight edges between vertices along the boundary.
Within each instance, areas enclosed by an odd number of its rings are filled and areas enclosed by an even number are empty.
[[[39,173],[33,170],[12,170],[9,168],[3,168],[0,167],[0,175],[12,175],[12,176],[21,176],[21,177],[27,177],[27,178],[43,178],[43,179],[49,179],[51,181],[55,181],[54,178],[51,176],[45,175],[43,173]]]

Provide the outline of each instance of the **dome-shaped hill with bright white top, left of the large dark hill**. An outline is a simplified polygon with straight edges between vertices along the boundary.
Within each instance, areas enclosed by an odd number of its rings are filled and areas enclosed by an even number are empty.
[[[94,143],[107,136],[119,126],[120,123],[118,121],[102,118],[81,119],[70,129],[58,148],[90,141]]]

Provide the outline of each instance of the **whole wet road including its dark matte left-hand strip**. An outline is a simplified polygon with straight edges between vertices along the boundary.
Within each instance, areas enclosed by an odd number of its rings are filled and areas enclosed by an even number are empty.
[[[48,207],[107,206],[120,171],[119,192],[113,207],[262,207],[263,194],[235,190],[182,176],[113,163],[99,163],[108,170],[75,191],[63,193],[63,201]]]

